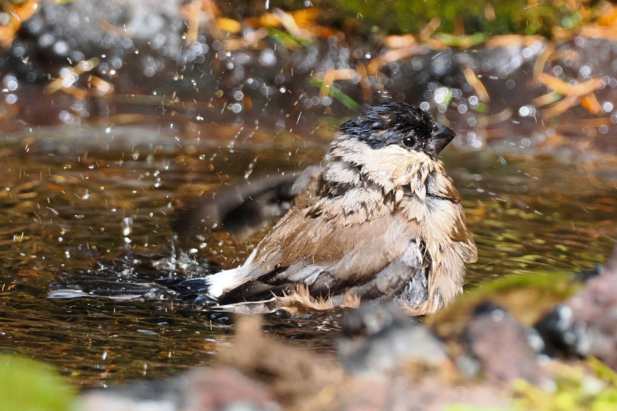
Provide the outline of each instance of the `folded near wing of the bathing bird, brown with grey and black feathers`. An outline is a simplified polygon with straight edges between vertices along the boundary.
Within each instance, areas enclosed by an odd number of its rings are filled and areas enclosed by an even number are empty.
[[[295,213],[310,213],[303,210]],[[277,241],[262,242],[255,256],[254,261],[265,267],[262,275],[226,293],[222,301],[266,298],[300,284],[323,298],[385,298],[407,288],[409,301],[426,298],[423,243],[396,214],[344,229],[340,221],[320,218],[305,218],[303,224],[286,221],[281,227],[284,231],[268,236]]]

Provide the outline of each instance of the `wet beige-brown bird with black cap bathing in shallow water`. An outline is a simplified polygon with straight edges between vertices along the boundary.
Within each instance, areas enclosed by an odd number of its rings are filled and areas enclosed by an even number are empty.
[[[321,169],[234,269],[205,279],[202,301],[242,304],[304,290],[341,303],[399,298],[415,314],[462,291],[476,245],[439,155],[455,133],[413,105],[371,107],[342,124]]]

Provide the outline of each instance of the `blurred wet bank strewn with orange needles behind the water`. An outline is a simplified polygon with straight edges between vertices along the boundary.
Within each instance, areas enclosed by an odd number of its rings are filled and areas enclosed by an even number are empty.
[[[2,3],[2,128],[314,132],[407,101],[491,140],[615,153],[607,1]]]

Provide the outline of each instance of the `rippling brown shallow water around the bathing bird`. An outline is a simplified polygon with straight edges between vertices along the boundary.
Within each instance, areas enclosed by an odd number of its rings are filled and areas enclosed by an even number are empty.
[[[159,129],[48,129],[0,143],[0,350],[56,365],[74,383],[107,384],[207,364],[231,321],[168,303],[48,299],[62,274],[126,250],[173,251],[170,213],[183,199],[249,176],[317,163],[331,134],[300,138],[233,129],[205,138]],[[230,141],[236,142],[231,144]],[[446,168],[479,248],[468,287],[508,274],[579,271],[617,239],[617,165],[587,158],[526,157],[518,149],[457,152]],[[217,227],[195,238],[197,257],[233,267],[256,238]],[[331,349],[336,313],[268,318],[266,330]]]

